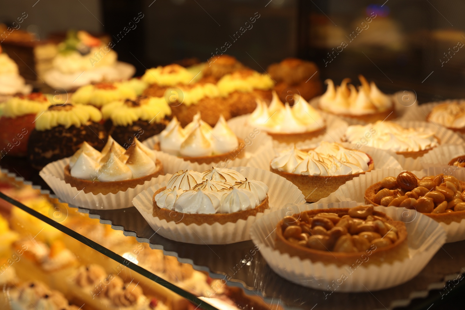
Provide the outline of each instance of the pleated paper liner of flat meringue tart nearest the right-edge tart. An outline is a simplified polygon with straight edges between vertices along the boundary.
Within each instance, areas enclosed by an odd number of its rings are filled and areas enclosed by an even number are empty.
[[[456,132],[453,132],[452,130],[449,130],[440,125],[435,125],[428,122],[405,120],[397,121],[396,123],[403,126],[404,128],[415,128],[418,130],[429,130],[434,132],[435,136],[439,138],[440,145],[461,145],[465,143],[465,141]],[[411,158],[399,155],[393,151],[385,151],[391,153],[405,170],[412,171],[423,169],[420,161],[421,157]]]

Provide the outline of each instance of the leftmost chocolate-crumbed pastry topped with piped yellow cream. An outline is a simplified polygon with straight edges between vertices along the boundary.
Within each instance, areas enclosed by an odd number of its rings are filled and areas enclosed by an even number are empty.
[[[27,143],[29,162],[41,169],[72,156],[84,141],[100,150],[107,138],[101,119],[99,109],[89,105],[66,103],[37,112],[35,129]]]

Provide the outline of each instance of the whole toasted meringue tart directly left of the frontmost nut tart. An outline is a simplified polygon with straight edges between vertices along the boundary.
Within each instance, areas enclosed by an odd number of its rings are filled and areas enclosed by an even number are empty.
[[[236,223],[268,207],[268,186],[230,169],[180,170],[153,194],[153,217],[186,225]]]

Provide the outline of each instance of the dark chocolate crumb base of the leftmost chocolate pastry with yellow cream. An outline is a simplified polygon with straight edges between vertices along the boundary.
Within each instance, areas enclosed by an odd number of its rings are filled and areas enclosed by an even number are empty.
[[[79,128],[59,125],[45,131],[34,129],[27,143],[27,156],[34,168],[42,169],[55,160],[73,156],[84,141],[100,151],[107,139],[104,126],[95,122]]]

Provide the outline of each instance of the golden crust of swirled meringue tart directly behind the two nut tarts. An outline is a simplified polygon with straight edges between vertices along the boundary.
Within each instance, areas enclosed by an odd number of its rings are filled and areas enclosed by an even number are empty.
[[[374,169],[375,164],[373,158],[368,154],[366,155],[370,158],[370,161],[368,162],[368,170],[365,172],[369,172]],[[302,191],[302,194],[304,194],[307,202],[317,202],[321,198],[328,197],[339,186],[345,184],[345,182],[358,177],[360,174],[365,174],[365,172],[359,172],[340,176],[310,176],[279,171],[278,169],[273,169],[271,165],[270,171],[296,185]]]

